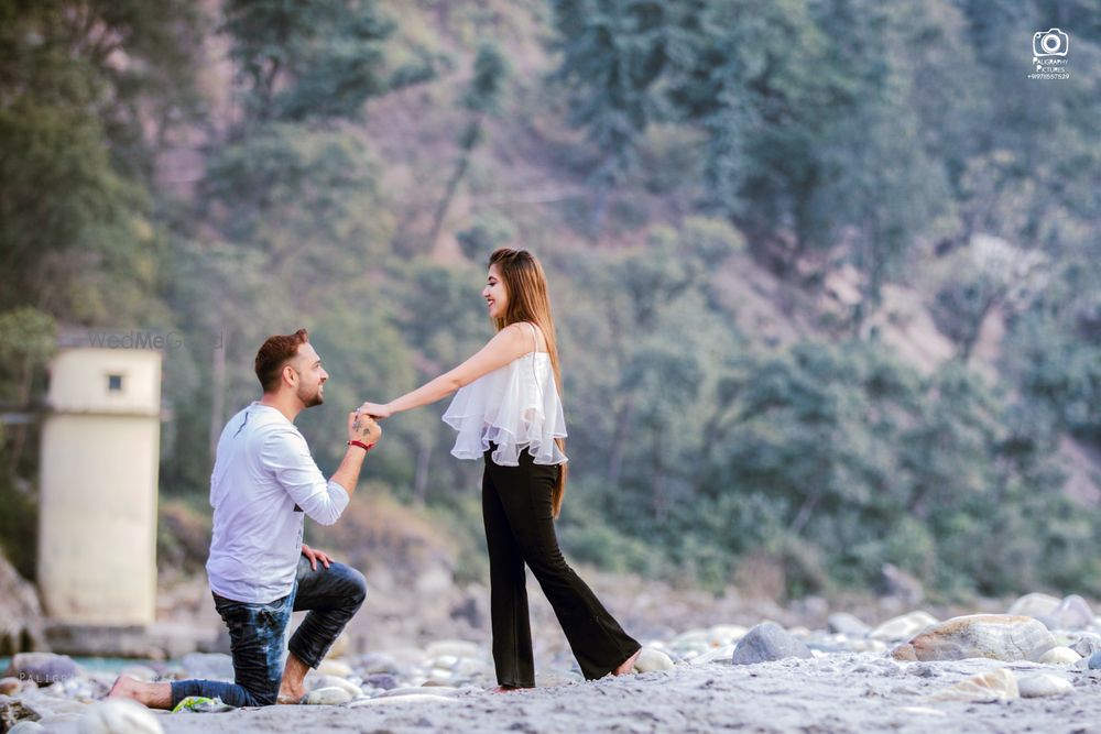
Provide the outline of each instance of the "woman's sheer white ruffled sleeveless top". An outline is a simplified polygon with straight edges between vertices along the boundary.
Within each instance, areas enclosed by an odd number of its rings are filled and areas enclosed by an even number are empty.
[[[460,387],[444,423],[459,431],[451,449],[458,459],[481,459],[493,442],[499,467],[519,467],[525,448],[537,464],[567,461],[554,442],[566,438],[566,418],[546,352],[527,352]]]

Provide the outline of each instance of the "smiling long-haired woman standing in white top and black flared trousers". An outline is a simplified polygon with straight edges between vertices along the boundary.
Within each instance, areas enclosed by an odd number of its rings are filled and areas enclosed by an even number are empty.
[[[555,535],[566,489],[566,420],[543,266],[526,250],[497,250],[482,297],[497,335],[478,353],[385,405],[364,403],[359,409],[388,418],[458,391],[444,420],[458,431],[451,453],[486,462],[482,518],[498,690],[535,686],[525,562],[585,677],[631,672],[639,643],[566,563]]]

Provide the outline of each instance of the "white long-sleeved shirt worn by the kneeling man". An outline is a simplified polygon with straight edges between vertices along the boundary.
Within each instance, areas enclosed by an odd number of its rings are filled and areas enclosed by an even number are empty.
[[[266,603],[291,593],[302,555],[303,515],[337,522],[348,492],[326,481],[294,424],[252,403],[221,431],[210,506],[210,589],[239,602]]]

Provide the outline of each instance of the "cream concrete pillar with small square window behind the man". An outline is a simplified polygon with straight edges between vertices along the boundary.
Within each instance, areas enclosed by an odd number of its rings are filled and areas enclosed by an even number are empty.
[[[42,603],[53,622],[149,625],[162,353],[118,339],[70,342],[63,340],[50,368],[42,431]]]

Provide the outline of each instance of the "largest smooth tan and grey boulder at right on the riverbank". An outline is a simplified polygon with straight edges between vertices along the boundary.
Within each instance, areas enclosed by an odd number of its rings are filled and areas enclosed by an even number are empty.
[[[1036,661],[1053,647],[1055,637],[1040,622],[1007,614],[958,616],[926,629],[892,651],[896,660]]]

